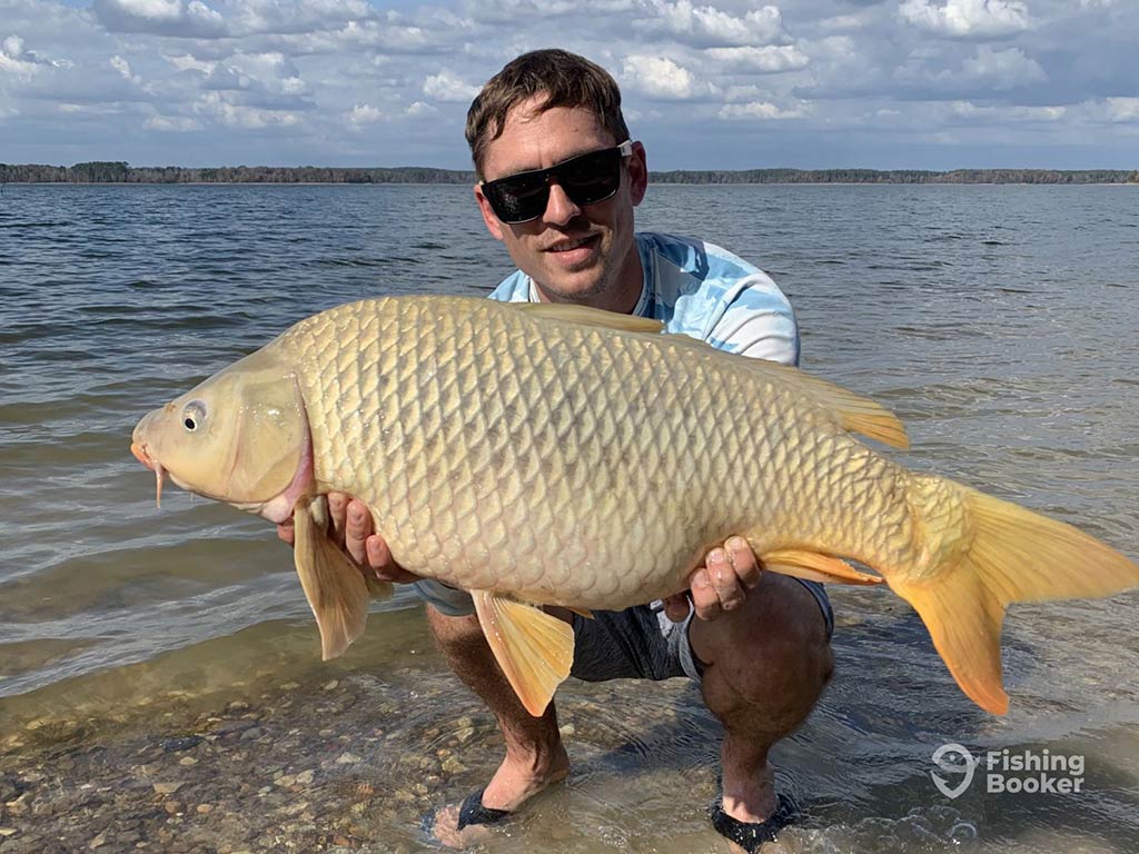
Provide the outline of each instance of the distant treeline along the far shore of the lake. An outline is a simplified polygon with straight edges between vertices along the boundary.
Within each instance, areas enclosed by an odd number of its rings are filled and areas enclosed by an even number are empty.
[[[1139,183],[1139,170],[958,169],[951,172],[872,169],[749,169],[653,172],[657,183]],[[0,183],[472,183],[474,172],[398,166],[130,166],[97,161],[74,166],[0,163]]]

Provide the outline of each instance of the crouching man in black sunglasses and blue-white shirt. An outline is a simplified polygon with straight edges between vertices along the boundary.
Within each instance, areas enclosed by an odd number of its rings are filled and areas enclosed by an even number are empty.
[[[492,298],[636,313],[724,350],[797,361],[790,306],[764,273],[700,241],[634,236],[633,208],[648,181],[645,149],[630,140],[616,83],[600,67],[559,50],[518,57],[475,99],[467,141],[483,220],[518,266]],[[722,488],[743,493],[748,484]],[[522,707],[469,596],[396,566],[359,502],[333,495],[329,503],[345,549],[364,572],[416,585],[451,667],[498,718],[502,764],[485,789],[434,822],[440,840],[464,846],[481,826],[568,773],[555,706],[542,717]],[[830,676],[833,615],[821,586],[761,573],[739,537],[710,551],[689,583],[663,603],[595,619],[551,611],[573,625],[572,674],[580,679],[687,675],[700,683],[724,728],[713,826],[754,851],[788,819],[768,752],[806,717]]]

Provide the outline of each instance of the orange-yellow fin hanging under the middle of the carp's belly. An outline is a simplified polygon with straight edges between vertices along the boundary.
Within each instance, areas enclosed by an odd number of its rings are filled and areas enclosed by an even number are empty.
[[[475,590],[475,613],[494,658],[522,705],[546,712],[573,664],[573,629],[541,608]]]

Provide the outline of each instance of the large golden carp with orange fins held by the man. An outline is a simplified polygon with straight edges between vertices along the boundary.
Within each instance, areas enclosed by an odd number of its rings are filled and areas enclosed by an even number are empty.
[[[132,450],[159,492],[169,474],[272,522],[294,515],[326,658],[363,630],[369,593],[391,592],[369,591],[325,534],[320,496],[363,500],[399,564],[472,591],[535,715],[573,659],[570,626],[535,606],[675,593],[731,534],[770,572],[885,580],[961,689],[998,714],[1009,602],[1139,583],[1136,564],[1076,528],[853,438],[906,446],[876,403],[659,329],[478,298],[343,305],[146,416]]]

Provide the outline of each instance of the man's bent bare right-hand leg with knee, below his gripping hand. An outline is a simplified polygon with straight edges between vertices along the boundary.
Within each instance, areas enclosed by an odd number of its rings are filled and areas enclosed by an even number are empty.
[[[764,821],[777,806],[768,752],[806,718],[834,670],[826,618],[801,583],[763,573],[738,608],[693,619],[689,640],[704,701],[724,728],[724,812]]]

